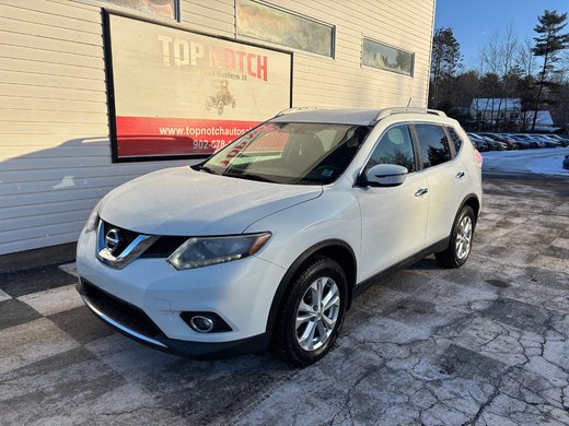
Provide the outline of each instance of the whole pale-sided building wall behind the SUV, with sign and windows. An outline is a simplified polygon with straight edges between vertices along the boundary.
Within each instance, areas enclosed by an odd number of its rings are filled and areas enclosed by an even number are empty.
[[[282,107],[425,107],[433,19],[434,0],[0,0],[0,256],[76,241],[116,186]]]

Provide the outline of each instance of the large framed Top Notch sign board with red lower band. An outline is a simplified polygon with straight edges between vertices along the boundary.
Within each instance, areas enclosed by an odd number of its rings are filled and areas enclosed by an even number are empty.
[[[291,106],[292,54],[106,14],[113,159],[204,157]]]

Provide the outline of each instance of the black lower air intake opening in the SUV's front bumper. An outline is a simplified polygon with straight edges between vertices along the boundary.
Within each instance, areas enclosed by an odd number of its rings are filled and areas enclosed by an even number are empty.
[[[80,293],[108,318],[149,338],[163,335],[156,324],[139,308],[111,296],[86,280],[82,279],[79,286]]]

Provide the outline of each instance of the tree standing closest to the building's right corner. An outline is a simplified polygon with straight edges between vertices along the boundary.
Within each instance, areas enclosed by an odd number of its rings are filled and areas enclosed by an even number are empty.
[[[430,104],[438,108],[441,86],[445,80],[456,74],[461,64],[461,45],[454,37],[452,28],[437,28],[432,38],[431,56],[431,96]]]

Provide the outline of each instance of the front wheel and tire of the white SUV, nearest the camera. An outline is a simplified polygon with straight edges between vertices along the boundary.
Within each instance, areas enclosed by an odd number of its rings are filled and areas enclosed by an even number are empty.
[[[322,304],[327,298],[328,308]],[[277,352],[299,367],[317,362],[338,336],[347,301],[348,283],[341,267],[322,256],[310,260],[297,273],[281,305],[274,340]]]

